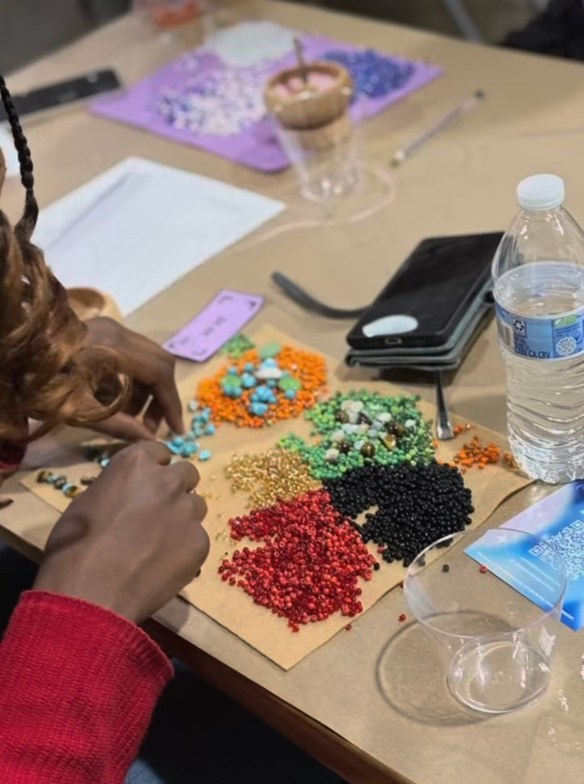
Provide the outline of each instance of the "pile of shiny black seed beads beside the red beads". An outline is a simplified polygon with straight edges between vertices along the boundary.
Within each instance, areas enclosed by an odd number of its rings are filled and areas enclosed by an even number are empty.
[[[437,539],[464,531],[474,511],[459,470],[435,460],[418,466],[369,463],[324,485],[363,541],[375,543],[387,563],[404,566]],[[364,512],[365,521],[357,524]]]

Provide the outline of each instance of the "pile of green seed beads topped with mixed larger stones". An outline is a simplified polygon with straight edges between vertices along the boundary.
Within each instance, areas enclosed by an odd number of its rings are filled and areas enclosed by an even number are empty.
[[[310,474],[319,480],[336,479],[347,470],[370,463],[430,463],[435,450],[432,423],[423,419],[416,405],[418,400],[419,397],[406,395],[386,397],[368,390],[337,393],[307,411],[307,419],[314,426],[314,442],[290,434],[280,445],[299,452],[303,463],[310,467]],[[359,426],[346,422],[346,411],[351,412],[347,408],[352,405],[349,401],[360,408]],[[383,426],[378,422],[383,422]]]

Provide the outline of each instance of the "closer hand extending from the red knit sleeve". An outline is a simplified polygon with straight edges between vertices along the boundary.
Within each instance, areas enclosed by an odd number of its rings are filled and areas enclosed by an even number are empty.
[[[192,463],[157,441],[118,452],[56,523],[34,583],[141,623],[198,575],[209,554]]]

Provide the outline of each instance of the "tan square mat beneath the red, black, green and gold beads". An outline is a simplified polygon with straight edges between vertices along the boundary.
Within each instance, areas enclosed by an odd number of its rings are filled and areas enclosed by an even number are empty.
[[[292,340],[270,326],[259,329],[252,335],[252,339],[259,346],[268,341],[277,340],[280,343],[292,343],[311,350],[310,347]],[[400,387],[395,387],[390,383],[379,381],[351,383],[340,380],[336,376],[336,371],[339,368],[338,363],[330,358],[326,359],[329,374],[328,386],[331,393],[337,390],[366,388],[386,395],[407,394]],[[225,357],[216,357],[209,364],[195,368],[190,376],[180,383],[181,399],[185,403],[185,407],[188,401],[194,398],[198,381],[216,372],[226,361]],[[433,405],[426,401],[419,401],[419,408],[423,412],[423,416],[434,419],[435,408]],[[186,412],[185,416],[188,422],[189,413]],[[461,419],[456,417],[452,419],[455,424],[463,423]],[[230,517],[245,514],[247,511],[246,496],[231,492],[229,483],[223,477],[223,467],[230,462],[234,452],[263,452],[274,446],[285,434],[294,432],[300,436],[308,437],[310,429],[310,423],[303,418],[277,423],[273,427],[263,430],[238,429],[225,424],[219,427],[216,435],[201,440],[201,443],[211,449],[213,453],[209,463],[197,462],[201,474],[200,492],[205,494],[209,506],[205,528],[207,528],[211,539],[211,552],[201,575],[183,591],[183,597],[187,601],[241,637],[242,640],[284,670],[289,670],[316,648],[331,640],[339,631],[342,633],[335,644],[342,644],[343,635],[350,633],[344,630],[348,619],[337,613],[325,621],[302,626],[299,633],[295,634],[288,629],[286,619],[277,618],[266,608],[253,604],[251,597],[248,597],[241,589],[231,587],[219,579],[217,567],[220,561],[227,554],[230,555],[236,546],[240,548],[245,546],[243,541],[238,544],[230,542],[227,521]],[[454,441],[442,442],[437,450],[437,457],[451,460],[462,443],[475,434],[481,441],[495,441],[503,448],[506,447],[505,440],[499,434],[481,426],[473,426],[472,430],[462,434]],[[57,510],[65,510],[70,502],[62,493],[53,488],[39,485],[36,481],[37,473],[38,471],[35,470],[31,474],[27,474],[22,480],[22,484]],[[67,466],[66,469],[63,469],[63,473],[71,481],[78,481],[84,474],[99,473],[99,469],[95,463],[79,463]],[[487,520],[500,503],[528,485],[529,481],[507,467],[492,465],[485,470],[477,468],[469,470],[465,475],[465,483],[473,492],[475,512],[470,527],[476,528]],[[373,547],[372,552],[375,553]],[[383,561],[381,564],[379,572],[374,572],[371,582],[361,581],[363,590],[361,601],[364,612],[367,612],[368,608],[372,607],[385,593],[404,579],[405,570],[401,564],[386,564]],[[359,616],[350,620],[353,624],[358,623]]]

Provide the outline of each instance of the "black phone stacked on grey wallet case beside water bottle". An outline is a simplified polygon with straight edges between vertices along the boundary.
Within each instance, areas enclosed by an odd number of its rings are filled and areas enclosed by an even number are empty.
[[[351,329],[346,364],[458,368],[493,312],[491,263],[501,237],[420,243]]]

